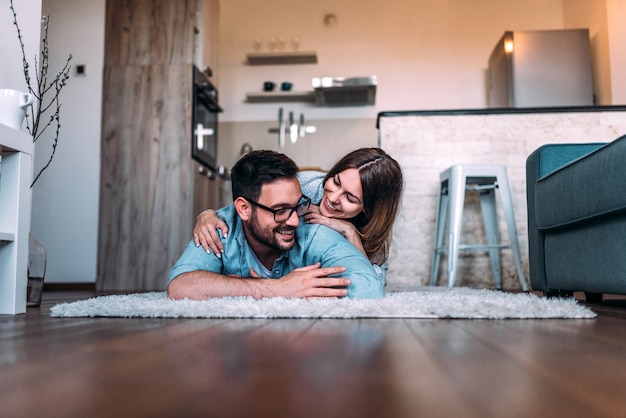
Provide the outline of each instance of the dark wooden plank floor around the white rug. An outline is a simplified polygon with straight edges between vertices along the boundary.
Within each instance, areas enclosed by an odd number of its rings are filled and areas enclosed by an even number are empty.
[[[2,417],[626,417],[626,298],[593,320],[0,316]]]

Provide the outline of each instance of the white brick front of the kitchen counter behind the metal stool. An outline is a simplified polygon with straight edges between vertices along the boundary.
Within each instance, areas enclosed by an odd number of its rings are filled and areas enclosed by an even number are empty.
[[[442,112],[443,113],[443,112]],[[453,164],[506,164],[524,271],[528,278],[526,158],[549,143],[608,142],[626,134],[624,108],[592,112],[508,113],[489,115],[420,115],[380,118],[383,149],[404,170],[405,191],[394,228],[388,282],[428,284],[432,266],[439,174]],[[496,193],[500,236],[508,242],[506,223]],[[462,242],[485,242],[480,205],[475,193],[466,194]],[[446,281],[445,254],[439,284]],[[457,285],[493,287],[488,256],[462,252]],[[510,250],[502,251],[504,289],[520,284]]]

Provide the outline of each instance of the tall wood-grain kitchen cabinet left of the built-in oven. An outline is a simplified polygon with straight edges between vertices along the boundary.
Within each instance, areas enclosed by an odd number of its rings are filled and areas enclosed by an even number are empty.
[[[196,202],[215,187],[191,159],[191,95],[194,63],[217,68],[216,10],[217,0],[107,0],[99,290],[165,289]]]

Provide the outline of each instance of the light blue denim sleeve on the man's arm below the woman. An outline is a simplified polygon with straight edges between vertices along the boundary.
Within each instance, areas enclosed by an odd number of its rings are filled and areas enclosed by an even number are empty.
[[[302,225],[304,227],[305,225]],[[322,267],[343,266],[344,273],[337,277],[349,278],[348,297],[378,299],[385,296],[384,272],[379,275],[372,263],[340,233],[322,225],[307,225],[310,240],[307,250],[308,264],[321,262]]]

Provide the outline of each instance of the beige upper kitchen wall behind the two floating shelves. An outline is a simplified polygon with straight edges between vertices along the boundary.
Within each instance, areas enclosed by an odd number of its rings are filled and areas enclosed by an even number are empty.
[[[328,109],[289,104],[308,119],[374,118],[380,111],[486,107],[488,57],[507,30],[563,27],[564,0],[224,0],[220,91],[224,121],[274,120],[277,104],[247,104],[264,81],[311,90],[319,76],[377,75],[376,106]],[[337,24],[327,27],[324,15]],[[318,64],[247,66],[260,38],[298,36]],[[286,49],[290,49],[287,42]]]

